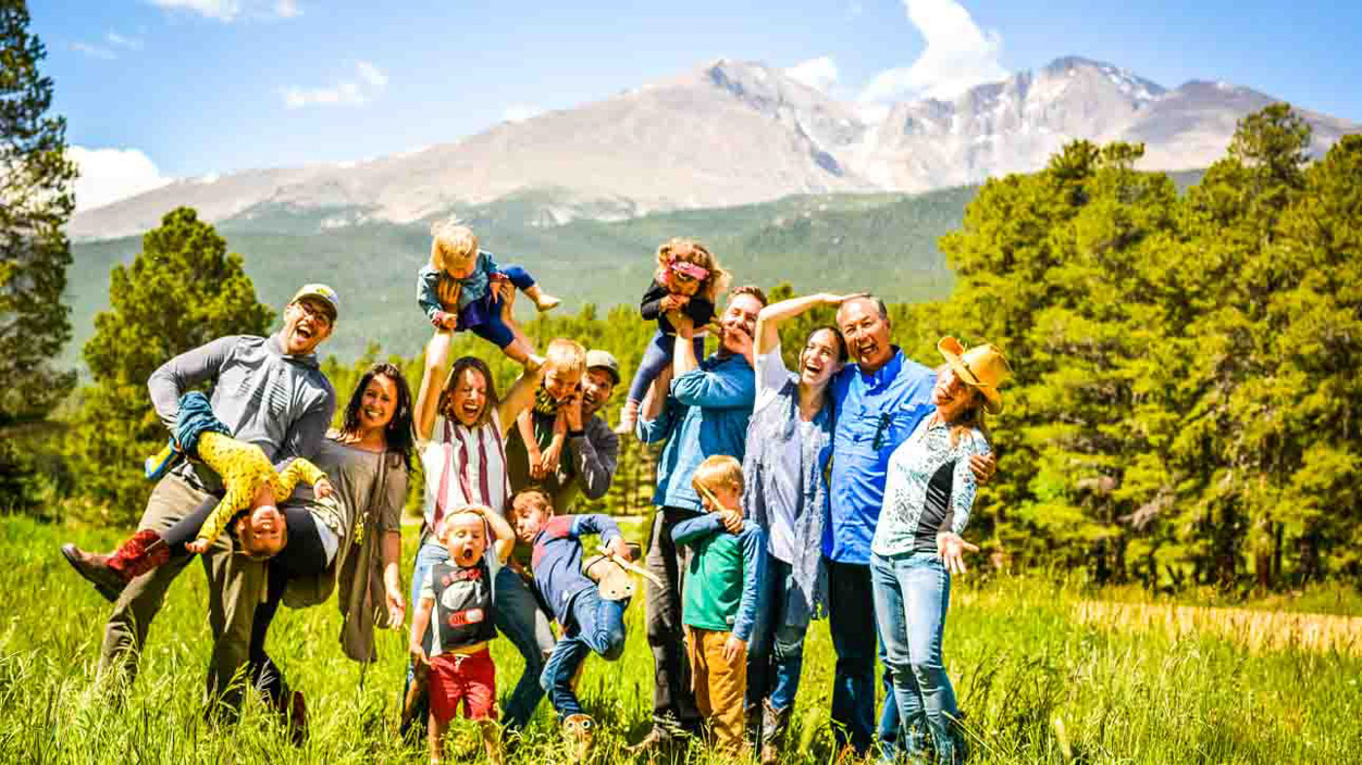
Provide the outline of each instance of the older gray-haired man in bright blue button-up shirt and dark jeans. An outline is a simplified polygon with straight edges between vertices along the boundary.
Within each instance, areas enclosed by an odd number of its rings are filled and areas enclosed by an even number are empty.
[[[874,731],[874,602],[870,598],[870,539],[884,502],[889,456],[932,414],[936,370],[889,343],[889,317],[873,297],[853,298],[838,310],[838,328],[854,363],[832,378],[836,430],[832,433],[832,516],[823,535],[828,566],[828,619],[838,653],[832,720],[838,746],[865,754]],[[994,463],[974,461],[986,481]],[[898,739],[899,711],[885,674],[878,735]]]

